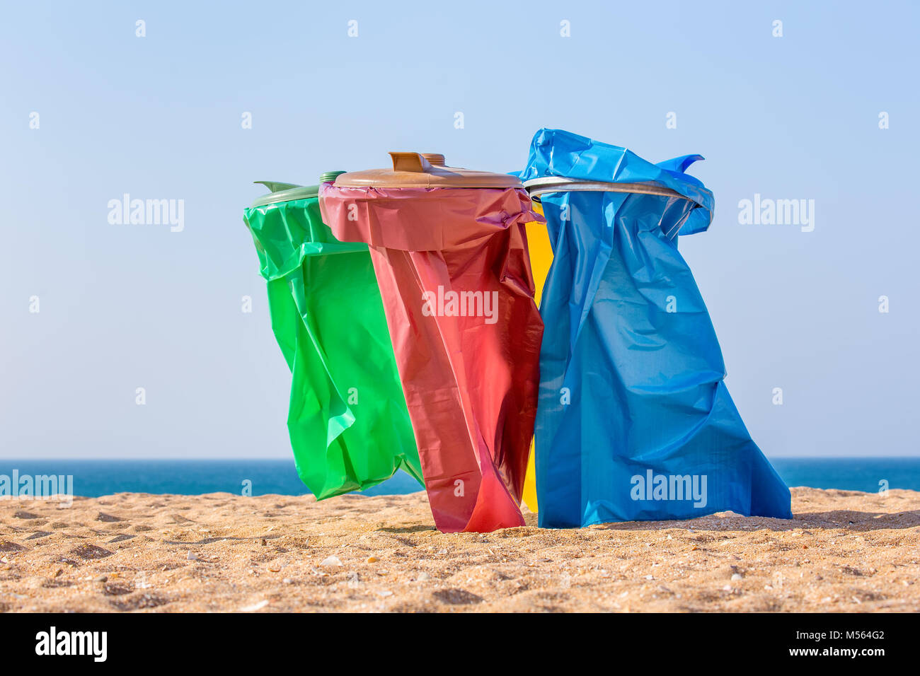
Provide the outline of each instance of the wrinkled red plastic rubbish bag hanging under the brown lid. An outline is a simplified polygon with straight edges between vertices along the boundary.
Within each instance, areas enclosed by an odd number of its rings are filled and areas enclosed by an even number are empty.
[[[438,529],[523,525],[543,334],[526,192],[323,185],[320,202],[340,240],[370,245]]]

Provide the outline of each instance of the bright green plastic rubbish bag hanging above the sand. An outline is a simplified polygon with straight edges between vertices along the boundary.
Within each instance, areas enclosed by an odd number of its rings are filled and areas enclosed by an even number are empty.
[[[298,475],[317,499],[375,486],[399,467],[424,486],[367,245],[336,240],[316,186],[259,182],[272,192],[244,220],[292,373],[287,425]]]

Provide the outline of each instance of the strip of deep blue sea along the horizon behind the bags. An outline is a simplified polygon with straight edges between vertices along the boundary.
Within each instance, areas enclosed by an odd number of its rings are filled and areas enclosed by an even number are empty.
[[[885,487],[920,490],[920,458],[774,458],[786,484],[878,492]],[[293,460],[0,460],[0,476],[73,475],[73,494],[96,498],[121,492],[199,495],[224,491],[251,495],[309,493]],[[249,483],[251,482],[251,483]],[[403,472],[365,495],[421,490]]]

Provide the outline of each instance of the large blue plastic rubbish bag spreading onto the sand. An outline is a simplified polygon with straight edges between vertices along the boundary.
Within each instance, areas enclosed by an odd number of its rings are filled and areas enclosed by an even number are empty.
[[[684,173],[697,159],[653,165],[569,132],[534,137],[521,178],[543,203],[554,255],[540,308],[541,526],[792,517],[722,382],[719,341],[677,251],[678,234],[712,220],[712,193]],[[541,183],[555,190],[539,194]]]

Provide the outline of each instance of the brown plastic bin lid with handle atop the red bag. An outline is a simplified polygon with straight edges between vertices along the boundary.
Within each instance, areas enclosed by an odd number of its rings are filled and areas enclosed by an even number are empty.
[[[339,188],[521,188],[511,174],[493,174],[459,166],[445,166],[437,153],[390,153],[392,169],[350,171],[336,178]]]

